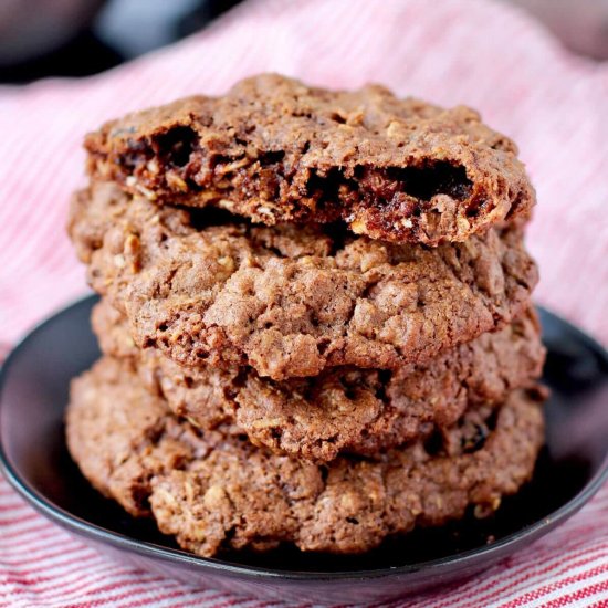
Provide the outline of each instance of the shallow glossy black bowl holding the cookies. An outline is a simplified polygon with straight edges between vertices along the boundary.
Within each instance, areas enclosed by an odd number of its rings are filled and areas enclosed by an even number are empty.
[[[70,379],[99,356],[87,297],[36,327],[8,357],[0,381],[0,460],[43,515],[123,562],[180,580],[268,599],[361,602],[455,583],[495,564],[578,511],[608,476],[608,356],[591,338],[541,311],[548,359],[547,445],[534,480],[488,520],[421,530],[357,557],[180,551],[147,521],[126,515],[86,483],[65,449]]]

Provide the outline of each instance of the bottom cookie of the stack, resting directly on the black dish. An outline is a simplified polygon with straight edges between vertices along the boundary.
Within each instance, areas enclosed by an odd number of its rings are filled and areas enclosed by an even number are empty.
[[[98,490],[135,515],[154,515],[197,554],[280,543],[360,553],[387,535],[461,517],[469,505],[492,512],[531,478],[543,417],[536,396],[516,391],[496,416],[469,412],[426,445],[319,467],[230,429],[202,432],[105,359],[72,385],[67,440]]]

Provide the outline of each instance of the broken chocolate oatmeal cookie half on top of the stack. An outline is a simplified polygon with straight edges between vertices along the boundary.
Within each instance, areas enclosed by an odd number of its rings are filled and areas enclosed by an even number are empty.
[[[157,202],[270,226],[342,220],[394,242],[463,241],[535,201],[515,145],[478,113],[378,85],[332,92],[260,75],[107,123],[85,147],[94,177]]]

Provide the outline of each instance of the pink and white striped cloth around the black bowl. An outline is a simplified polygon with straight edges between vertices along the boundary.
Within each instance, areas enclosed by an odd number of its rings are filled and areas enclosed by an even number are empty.
[[[315,84],[384,83],[469,104],[511,135],[537,187],[528,244],[537,300],[608,342],[608,64],[575,57],[505,3],[260,0],[209,30],[81,81],[0,87],[0,343],[84,292],[64,233],[84,182],[81,140],[126,111],[220,93],[276,71]],[[417,606],[608,605],[608,488],[567,524]],[[239,605],[126,569],[36,515],[0,480],[1,606]],[[251,600],[243,605],[261,606]]]

